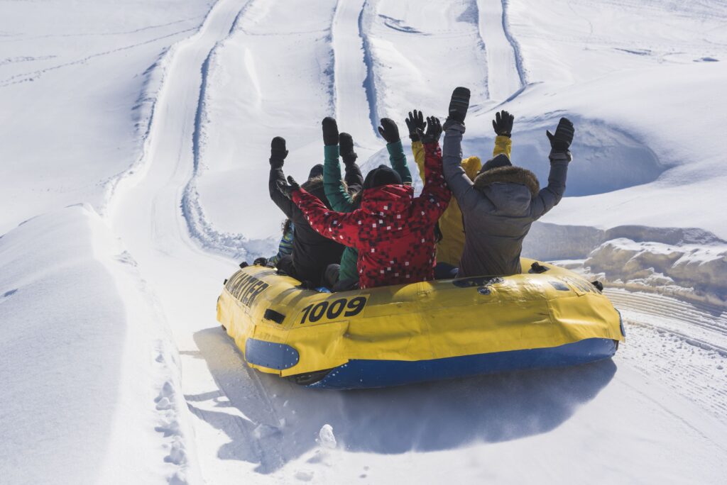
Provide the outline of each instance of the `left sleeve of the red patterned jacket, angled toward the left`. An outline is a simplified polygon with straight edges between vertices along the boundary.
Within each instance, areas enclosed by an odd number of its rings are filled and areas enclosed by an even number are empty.
[[[321,236],[328,237],[342,245],[356,248],[359,242],[359,211],[336,212],[327,208],[318,197],[304,189],[293,192],[293,202],[300,208],[310,227]]]

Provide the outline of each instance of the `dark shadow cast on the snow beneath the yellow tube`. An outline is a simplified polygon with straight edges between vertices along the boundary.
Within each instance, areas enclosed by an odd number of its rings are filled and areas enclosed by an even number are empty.
[[[565,369],[329,391],[250,369],[222,328],[202,330],[194,339],[221,391],[188,395],[188,405],[229,436],[220,458],[259,463],[259,473],[272,473],[317,449],[324,424],[332,425],[339,447],[381,454],[545,433],[593,399],[616,372],[608,359]]]

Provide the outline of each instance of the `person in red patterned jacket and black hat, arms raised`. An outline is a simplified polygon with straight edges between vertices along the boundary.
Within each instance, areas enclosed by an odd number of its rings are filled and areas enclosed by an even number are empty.
[[[335,212],[305,192],[288,177],[278,182],[281,192],[298,205],[310,227],[343,245],[358,249],[361,288],[403,285],[434,279],[434,224],[449,204],[451,192],[444,182],[437,118],[427,118],[422,133],[425,149],[425,186],[419,197],[414,188],[387,166],[366,175],[361,208]]]

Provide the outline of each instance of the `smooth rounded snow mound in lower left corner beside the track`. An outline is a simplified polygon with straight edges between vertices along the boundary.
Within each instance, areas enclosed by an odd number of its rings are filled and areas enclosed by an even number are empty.
[[[134,265],[89,205],[0,237],[3,483],[195,476],[176,351]]]

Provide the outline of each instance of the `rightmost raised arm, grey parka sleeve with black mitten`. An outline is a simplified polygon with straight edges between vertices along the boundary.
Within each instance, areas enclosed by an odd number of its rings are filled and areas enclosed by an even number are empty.
[[[555,135],[546,131],[550,139],[550,174],[547,177],[547,187],[538,192],[530,205],[530,213],[533,219],[539,219],[547,211],[561,202],[563,193],[566,192],[566,176],[568,175],[568,164],[571,161],[571,142],[575,129],[568,118],[561,118]]]

